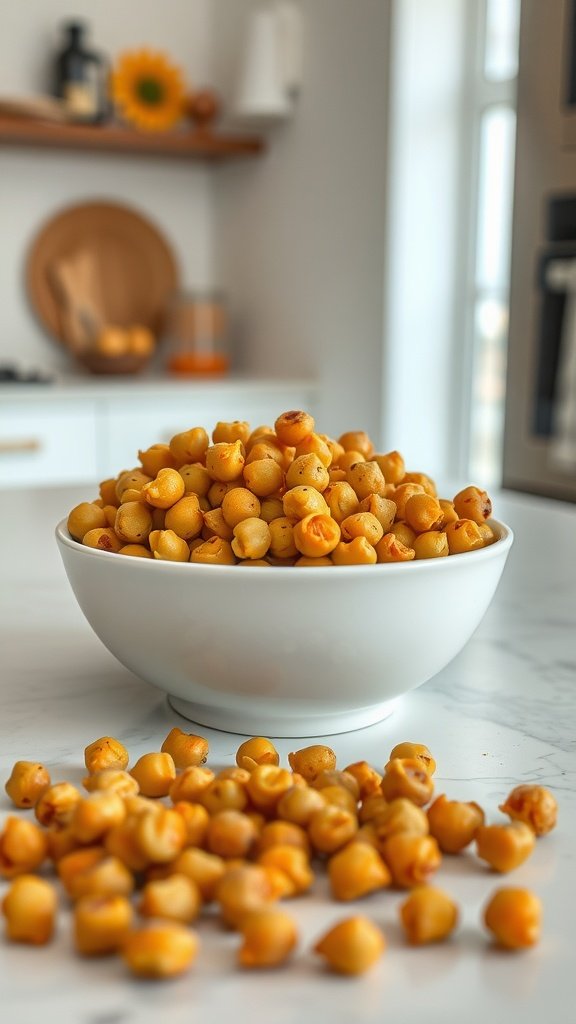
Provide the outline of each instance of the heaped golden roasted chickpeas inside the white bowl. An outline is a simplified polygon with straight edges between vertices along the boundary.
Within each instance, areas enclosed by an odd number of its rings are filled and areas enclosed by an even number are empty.
[[[364,431],[315,433],[304,412],[274,427],[217,423],[138,452],[68,517],[91,548],[205,565],[373,565],[457,555],[492,544],[492,503],[468,486],[439,498],[399,452]]]

